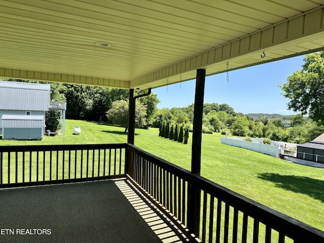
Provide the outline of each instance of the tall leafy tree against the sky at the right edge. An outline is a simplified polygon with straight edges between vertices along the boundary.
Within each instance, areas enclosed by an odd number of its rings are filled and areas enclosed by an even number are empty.
[[[324,124],[324,52],[307,54],[301,70],[288,76],[281,95],[288,98],[288,109],[309,113],[318,125]]]

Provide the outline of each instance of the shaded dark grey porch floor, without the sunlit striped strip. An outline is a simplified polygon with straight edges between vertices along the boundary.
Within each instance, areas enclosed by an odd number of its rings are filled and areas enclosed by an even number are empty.
[[[162,241],[114,181],[101,181],[0,190],[0,242]]]

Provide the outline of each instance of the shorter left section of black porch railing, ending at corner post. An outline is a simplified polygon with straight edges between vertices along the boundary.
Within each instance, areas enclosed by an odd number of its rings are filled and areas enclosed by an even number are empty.
[[[0,146],[0,188],[125,176],[126,144]]]

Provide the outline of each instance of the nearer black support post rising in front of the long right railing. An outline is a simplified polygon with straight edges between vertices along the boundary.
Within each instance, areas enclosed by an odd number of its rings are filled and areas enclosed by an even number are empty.
[[[200,175],[201,129],[203,128],[205,69],[197,69],[196,90],[193,111],[193,133],[191,149],[191,172]],[[199,237],[200,224],[200,190],[192,184],[188,185],[188,228]]]

